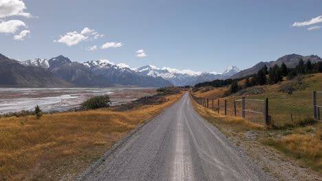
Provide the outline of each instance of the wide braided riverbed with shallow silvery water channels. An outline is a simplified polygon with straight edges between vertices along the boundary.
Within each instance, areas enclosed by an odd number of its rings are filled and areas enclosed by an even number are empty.
[[[34,110],[36,105],[45,112],[65,111],[94,95],[110,95],[113,105],[151,94],[148,88],[0,88],[0,114]]]

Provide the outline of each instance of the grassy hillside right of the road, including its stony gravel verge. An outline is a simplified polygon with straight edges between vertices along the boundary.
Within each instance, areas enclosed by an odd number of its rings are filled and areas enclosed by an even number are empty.
[[[245,80],[239,81],[239,85],[244,85]],[[278,165],[292,165],[288,169],[269,170],[278,175],[288,178],[283,173],[297,170],[298,175],[293,176],[298,180],[305,176],[310,169],[322,174],[322,123],[314,121],[312,93],[322,90],[322,73],[299,75],[293,80],[279,82],[278,84],[253,86],[244,88],[237,93],[225,97],[225,92],[229,86],[222,88],[202,87],[195,93],[197,97],[215,98],[215,111],[198,107],[198,112],[211,121],[224,133],[232,137],[238,145],[242,145],[248,150],[250,155],[260,158],[264,164],[277,164],[276,159],[280,159],[280,154],[286,158],[279,161]],[[292,94],[283,92],[284,90],[294,90]],[[219,99],[220,110],[217,114],[217,97]],[[264,117],[261,114],[246,112],[246,119],[241,118],[241,102],[237,101],[237,117],[234,115],[234,100],[241,97],[246,99],[268,98],[268,113],[270,115],[271,128],[264,128],[258,125],[265,125]],[[224,116],[224,100],[227,101],[227,116]],[[318,95],[318,104],[322,105],[322,95]],[[246,110],[258,112],[264,111],[264,103],[260,101],[246,101]],[[212,108],[209,101],[209,107]],[[321,114],[321,113],[320,113]],[[256,124],[253,124],[256,123]],[[256,147],[254,147],[256,145]],[[265,150],[265,151],[264,151]],[[270,150],[270,151],[268,151]],[[266,154],[266,152],[274,153]],[[268,161],[275,160],[275,161]],[[266,161],[265,161],[266,160]],[[300,165],[300,166],[299,166]],[[305,168],[300,171],[299,167]],[[310,169],[306,169],[310,168]],[[312,173],[316,174],[316,173]]]

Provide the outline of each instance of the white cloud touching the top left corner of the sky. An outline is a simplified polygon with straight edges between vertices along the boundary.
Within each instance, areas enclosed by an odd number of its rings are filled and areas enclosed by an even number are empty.
[[[25,12],[27,7],[20,0],[1,0],[0,1],[0,18],[8,16],[25,16],[32,17],[30,13]]]

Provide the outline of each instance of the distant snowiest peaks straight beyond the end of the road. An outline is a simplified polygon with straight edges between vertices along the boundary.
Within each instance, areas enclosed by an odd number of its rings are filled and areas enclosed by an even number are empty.
[[[216,79],[226,79],[231,75],[234,75],[235,73],[239,72],[239,69],[235,66],[232,66],[232,67],[228,67],[228,69],[224,71],[224,73],[216,73],[216,72],[207,73],[207,72],[191,71],[189,69],[187,70],[171,69],[169,67],[164,67],[160,69],[153,65],[147,65],[144,67],[140,67],[135,71],[143,75],[162,77],[165,80],[169,80],[170,82],[172,82],[175,86],[186,86],[186,85],[194,86],[199,82],[212,81]]]

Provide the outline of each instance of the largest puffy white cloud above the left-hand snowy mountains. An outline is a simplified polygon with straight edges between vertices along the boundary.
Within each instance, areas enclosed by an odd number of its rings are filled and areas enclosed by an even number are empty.
[[[54,42],[65,43],[67,46],[77,45],[85,40],[93,40],[100,37],[103,37],[103,34],[98,34],[94,29],[85,27],[80,33],[78,32],[67,32],[65,35],[61,36],[58,40]],[[96,47],[97,48],[97,47]]]

